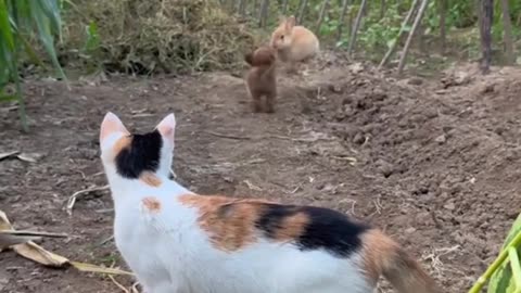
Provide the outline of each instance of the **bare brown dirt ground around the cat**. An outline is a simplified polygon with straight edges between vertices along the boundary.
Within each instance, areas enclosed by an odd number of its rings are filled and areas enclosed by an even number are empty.
[[[484,271],[521,196],[521,71],[486,77],[461,65],[435,80],[396,79],[322,56],[305,75],[279,76],[277,112],[253,114],[227,73],[113,77],[25,86],[30,133],[0,109],[0,209],[18,229],[66,232],[41,244],[71,259],[125,268],[112,234],[98,130],[107,111],[138,131],[177,117],[174,169],[200,193],[260,196],[338,208],[385,230],[421,259],[445,292]],[[123,292],[100,275],[46,268],[0,254],[0,292]],[[130,280],[116,277],[124,284]]]

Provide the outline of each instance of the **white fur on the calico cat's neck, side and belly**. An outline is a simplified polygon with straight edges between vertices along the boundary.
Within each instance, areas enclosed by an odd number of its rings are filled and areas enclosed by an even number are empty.
[[[103,152],[120,135],[107,137]],[[166,160],[171,160],[166,157]],[[103,160],[115,206],[116,246],[147,293],[371,293],[361,257],[300,251],[291,243],[260,240],[236,252],[212,245],[199,227],[199,212],[178,201],[191,193],[166,175],[157,188],[122,178]],[[151,212],[143,199],[154,198]],[[263,239],[259,237],[259,239]]]

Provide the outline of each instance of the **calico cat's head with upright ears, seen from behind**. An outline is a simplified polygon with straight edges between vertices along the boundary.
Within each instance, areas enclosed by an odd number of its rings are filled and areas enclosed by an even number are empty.
[[[169,114],[151,131],[131,133],[113,113],[100,129],[101,161],[107,176],[138,179],[144,174],[168,177],[174,157],[176,118]]]

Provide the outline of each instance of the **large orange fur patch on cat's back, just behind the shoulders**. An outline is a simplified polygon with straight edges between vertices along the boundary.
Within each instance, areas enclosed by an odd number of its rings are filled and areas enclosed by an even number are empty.
[[[237,251],[256,241],[255,221],[266,203],[226,196],[186,194],[179,202],[199,209],[199,225],[221,251]]]

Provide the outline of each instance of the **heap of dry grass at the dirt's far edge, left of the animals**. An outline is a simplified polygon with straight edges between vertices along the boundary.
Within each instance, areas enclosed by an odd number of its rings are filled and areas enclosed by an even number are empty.
[[[230,69],[256,38],[217,0],[76,0],[65,13],[65,62],[102,64],[137,74]],[[85,54],[86,26],[96,23],[99,48]],[[79,53],[78,53],[79,52]]]

